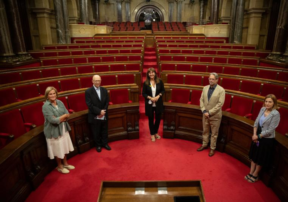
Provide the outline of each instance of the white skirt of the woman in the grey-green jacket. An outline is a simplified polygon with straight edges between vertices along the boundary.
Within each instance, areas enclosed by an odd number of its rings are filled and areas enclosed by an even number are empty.
[[[68,154],[69,152],[72,152],[74,150],[69,132],[68,131],[65,132],[64,124],[62,134],[63,134],[62,136],[59,136],[56,139],[53,137],[51,139],[46,138],[48,157],[50,159],[53,159],[54,156],[63,159],[65,154]]]

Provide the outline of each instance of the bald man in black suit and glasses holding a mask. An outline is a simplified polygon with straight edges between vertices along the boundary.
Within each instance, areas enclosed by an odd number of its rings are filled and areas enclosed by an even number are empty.
[[[92,83],[93,86],[85,91],[88,123],[91,124],[97,152],[101,152],[101,147],[111,150],[108,145],[108,91],[100,86],[101,77],[99,75],[93,76]]]

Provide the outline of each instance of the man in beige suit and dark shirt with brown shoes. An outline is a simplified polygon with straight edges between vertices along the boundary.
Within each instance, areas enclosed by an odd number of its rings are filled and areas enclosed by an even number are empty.
[[[198,152],[207,149],[209,143],[209,132],[211,128],[211,142],[209,156],[214,155],[218,130],[222,118],[222,106],[225,101],[225,90],[217,85],[218,74],[213,72],[209,74],[209,84],[203,88],[200,98],[200,108],[203,113],[203,143],[197,149]]]

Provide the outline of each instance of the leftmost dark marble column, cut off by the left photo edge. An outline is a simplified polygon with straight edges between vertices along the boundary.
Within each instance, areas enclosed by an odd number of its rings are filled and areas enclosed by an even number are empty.
[[[8,27],[4,0],[0,0],[0,56],[15,55],[13,52],[10,31]],[[5,60],[5,59],[4,59]],[[2,59],[0,60],[0,62]]]

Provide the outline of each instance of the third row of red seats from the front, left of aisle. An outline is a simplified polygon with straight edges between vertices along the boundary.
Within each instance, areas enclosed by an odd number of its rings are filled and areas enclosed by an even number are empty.
[[[0,74],[0,84],[14,83],[32,79],[66,76],[73,74],[86,74],[98,72],[141,71],[141,63],[92,64],[79,66],[38,68],[32,70],[20,69]]]

